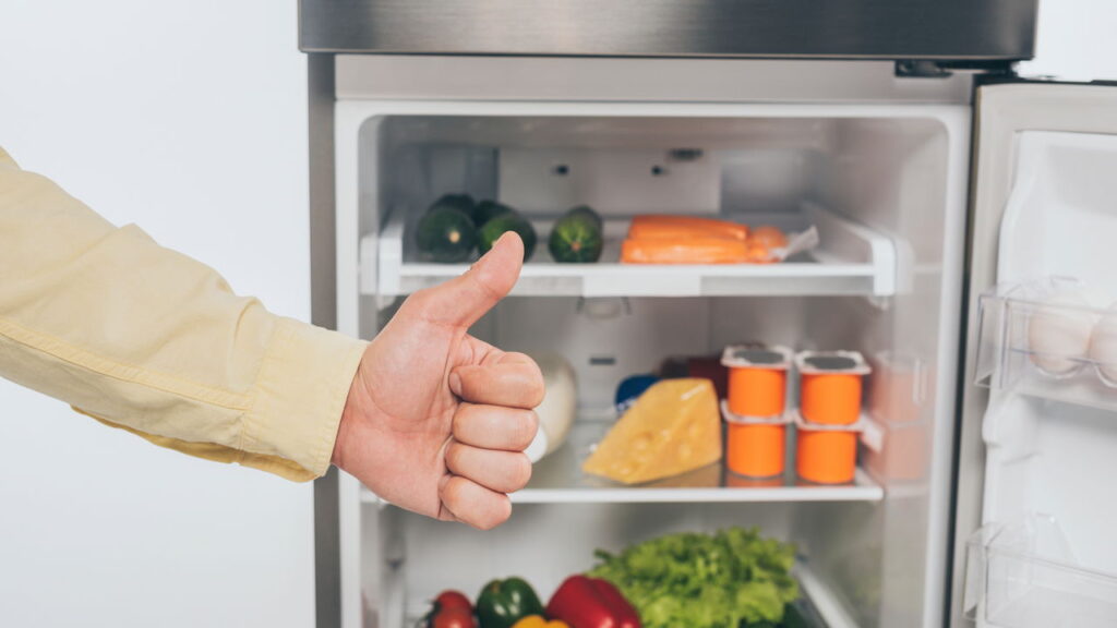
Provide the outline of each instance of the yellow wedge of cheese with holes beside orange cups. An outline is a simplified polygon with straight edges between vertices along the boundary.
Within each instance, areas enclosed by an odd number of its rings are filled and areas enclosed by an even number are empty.
[[[637,399],[582,470],[639,484],[694,470],[722,458],[722,424],[714,384],[663,380]]]

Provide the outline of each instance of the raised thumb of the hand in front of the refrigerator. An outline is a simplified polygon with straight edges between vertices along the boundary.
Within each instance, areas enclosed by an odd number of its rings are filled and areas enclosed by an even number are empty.
[[[524,242],[515,231],[505,231],[464,275],[423,291],[426,318],[469,327],[507,296],[523,266]]]

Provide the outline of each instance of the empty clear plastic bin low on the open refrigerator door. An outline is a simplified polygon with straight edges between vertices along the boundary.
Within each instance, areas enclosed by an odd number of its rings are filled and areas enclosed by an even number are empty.
[[[1117,574],[1079,567],[1053,517],[986,525],[966,550],[965,611],[977,626],[1117,626]]]

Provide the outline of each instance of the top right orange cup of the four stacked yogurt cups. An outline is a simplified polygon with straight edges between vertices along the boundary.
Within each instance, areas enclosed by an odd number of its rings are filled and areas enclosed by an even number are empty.
[[[799,410],[811,424],[852,425],[861,416],[862,378],[871,369],[857,351],[803,351],[799,370]]]

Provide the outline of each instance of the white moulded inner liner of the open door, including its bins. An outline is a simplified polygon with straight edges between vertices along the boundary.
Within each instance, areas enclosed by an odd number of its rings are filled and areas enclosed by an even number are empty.
[[[1015,154],[983,299],[989,529],[971,562],[987,588],[970,605],[981,626],[1113,625],[1117,506],[1098,488],[1117,474],[1117,134],[1024,131]]]

